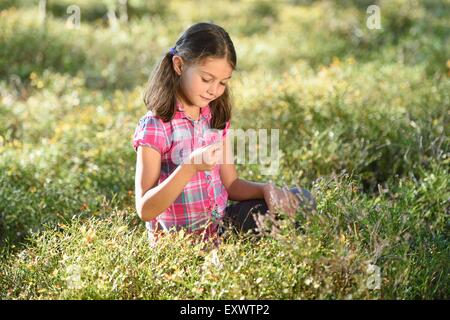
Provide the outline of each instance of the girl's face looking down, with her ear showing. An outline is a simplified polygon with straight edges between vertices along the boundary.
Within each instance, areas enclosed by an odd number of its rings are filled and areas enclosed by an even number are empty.
[[[181,74],[184,95],[193,106],[200,108],[224,93],[233,73],[225,58],[206,58],[200,64],[189,66],[183,64],[178,56],[173,59],[175,70]]]

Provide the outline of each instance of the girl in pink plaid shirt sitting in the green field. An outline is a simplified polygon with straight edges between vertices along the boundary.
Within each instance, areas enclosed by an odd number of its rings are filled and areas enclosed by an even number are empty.
[[[293,214],[310,193],[240,179],[233,164],[228,81],[236,52],[228,33],[212,23],[189,27],[157,65],[144,94],[149,110],[136,127],[136,210],[149,236],[185,228],[206,238],[229,221],[242,231],[259,214]],[[222,159],[219,163],[219,159]],[[304,197],[303,197],[304,198]],[[228,205],[228,200],[239,201]],[[305,199],[303,199],[305,200]]]

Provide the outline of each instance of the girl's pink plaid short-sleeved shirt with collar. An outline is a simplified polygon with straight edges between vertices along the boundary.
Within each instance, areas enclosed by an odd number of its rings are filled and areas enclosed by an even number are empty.
[[[230,128],[211,130],[209,105],[200,109],[200,117],[193,120],[177,101],[176,112],[171,121],[148,111],[140,120],[133,137],[133,148],[149,146],[161,154],[161,173],[158,184],[162,183],[189,154],[204,145],[223,141]],[[211,171],[201,171],[192,177],[175,201],[155,219],[146,222],[149,236],[155,230],[156,222],[164,230],[175,227],[186,228],[193,233],[205,232],[206,237],[215,235],[217,225],[222,220],[227,206],[228,193],[220,179],[220,164]]]

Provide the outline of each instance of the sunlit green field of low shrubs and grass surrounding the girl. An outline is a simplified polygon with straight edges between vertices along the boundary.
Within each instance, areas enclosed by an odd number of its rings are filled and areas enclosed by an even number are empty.
[[[38,2],[0,4],[0,299],[450,298],[448,0]],[[278,174],[240,177],[317,199],[299,233],[149,246],[132,136],[200,21],[236,47],[232,128],[282,129]]]

